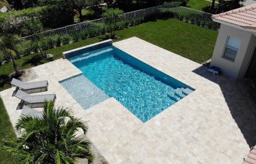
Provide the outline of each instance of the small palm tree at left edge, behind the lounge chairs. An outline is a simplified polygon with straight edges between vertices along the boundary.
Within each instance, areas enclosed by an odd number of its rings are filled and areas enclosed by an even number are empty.
[[[18,69],[17,64],[15,63],[15,57],[17,55],[17,45],[21,42],[20,36],[7,34],[0,38],[0,51],[2,55],[6,55],[8,58],[11,58],[13,68],[15,69],[15,77],[21,75],[21,71]]]

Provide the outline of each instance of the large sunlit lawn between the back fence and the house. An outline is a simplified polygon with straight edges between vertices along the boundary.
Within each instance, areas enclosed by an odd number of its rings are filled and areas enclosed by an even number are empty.
[[[175,52],[178,55],[203,63],[211,58],[217,31],[184,23],[181,20],[157,20],[117,31],[121,39],[138,36],[140,39]]]

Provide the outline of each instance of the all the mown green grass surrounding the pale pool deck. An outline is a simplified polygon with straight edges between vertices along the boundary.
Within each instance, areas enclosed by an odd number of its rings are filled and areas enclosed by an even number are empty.
[[[182,55],[185,58],[194,60],[197,63],[202,63],[208,58],[211,58],[214,50],[214,44],[217,39],[217,31],[213,31],[206,28],[184,23],[176,19],[157,20],[154,22],[148,22],[127,28],[121,31],[117,31],[116,34],[121,36],[121,39],[127,39],[132,36],[138,36],[140,39],[144,39],[147,42],[156,44],[171,52],[175,52],[178,55]],[[62,52],[72,50],[77,47],[82,47],[87,44],[100,42],[105,40],[104,36],[97,36],[91,39],[86,39],[81,42],[75,42],[67,44],[62,47],[56,47],[48,50],[48,53],[54,55],[53,59],[62,58]],[[117,39],[115,40],[121,40]],[[28,69],[32,66],[37,66],[42,63],[47,63],[51,60],[34,60],[34,55],[29,55],[24,58],[20,58],[17,61],[20,69]],[[12,73],[12,63],[7,63],[4,66],[0,66],[0,91],[10,87],[8,80],[8,74]],[[10,120],[6,110],[4,109],[3,102],[0,100],[0,141],[4,138],[15,137]],[[1,146],[1,144],[0,144]],[[15,163],[15,159],[10,157],[7,152],[0,149],[0,164]]]

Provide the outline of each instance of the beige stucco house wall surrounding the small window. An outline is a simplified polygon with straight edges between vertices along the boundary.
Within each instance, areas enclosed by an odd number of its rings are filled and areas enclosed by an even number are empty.
[[[234,61],[222,58],[228,36],[241,39],[241,45]],[[252,57],[252,49],[255,42],[251,41],[255,41],[255,39],[252,32],[222,24],[219,28],[217,42],[211,58],[211,66],[218,66],[223,74],[233,79],[243,78],[249,65],[249,60]]]

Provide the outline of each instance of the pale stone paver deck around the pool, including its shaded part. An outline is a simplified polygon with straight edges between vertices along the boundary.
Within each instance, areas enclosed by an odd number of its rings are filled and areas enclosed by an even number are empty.
[[[196,90],[143,123],[114,98],[83,109],[59,84],[81,74],[66,59],[32,68],[34,81],[48,80],[47,93],[56,93],[56,106],[69,107],[89,122],[88,138],[108,163],[242,163],[256,143],[256,106],[243,85],[136,37],[113,45]],[[15,125],[21,111],[13,90],[0,95]]]

